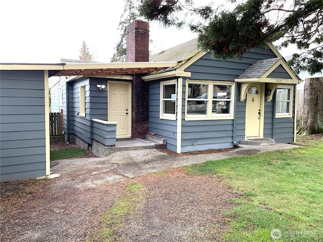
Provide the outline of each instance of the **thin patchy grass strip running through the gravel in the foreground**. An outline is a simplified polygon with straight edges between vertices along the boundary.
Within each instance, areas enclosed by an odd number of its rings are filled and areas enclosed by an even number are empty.
[[[101,217],[101,228],[96,231],[88,241],[119,241],[119,230],[123,220],[135,212],[140,206],[140,201],[144,198],[145,190],[141,184],[131,183],[124,193],[117,196],[114,205],[104,212]]]

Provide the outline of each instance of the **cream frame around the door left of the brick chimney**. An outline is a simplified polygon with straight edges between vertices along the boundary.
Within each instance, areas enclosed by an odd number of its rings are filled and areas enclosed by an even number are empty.
[[[132,119],[132,109],[131,109],[131,82],[122,82],[122,81],[107,81],[107,120],[111,120],[110,118],[110,101],[109,101],[109,90],[110,90],[110,84],[120,84],[120,85],[127,85],[127,91],[128,91],[128,134],[127,135],[117,135],[116,139],[122,139],[122,138],[131,138],[131,119]],[[117,125],[118,129],[118,125]]]

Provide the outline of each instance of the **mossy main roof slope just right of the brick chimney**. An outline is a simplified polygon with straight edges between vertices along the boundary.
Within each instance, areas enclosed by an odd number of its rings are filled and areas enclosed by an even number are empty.
[[[197,38],[195,38],[157,54],[150,55],[149,62],[182,62],[197,51],[199,50],[197,48]]]

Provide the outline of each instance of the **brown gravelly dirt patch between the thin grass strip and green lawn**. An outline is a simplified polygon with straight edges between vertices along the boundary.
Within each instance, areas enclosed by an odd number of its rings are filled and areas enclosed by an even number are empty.
[[[125,219],[120,241],[221,241],[229,221],[224,212],[237,197],[223,179],[171,169],[134,180],[147,194]]]

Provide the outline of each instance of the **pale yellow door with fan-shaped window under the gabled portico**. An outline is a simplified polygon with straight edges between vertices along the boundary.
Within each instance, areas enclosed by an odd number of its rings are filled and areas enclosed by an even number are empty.
[[[246,139],[263,136],[261,103],[261,84],[254,83],[249,87],[246,96]]]

